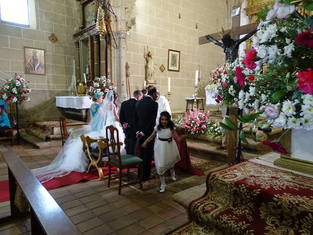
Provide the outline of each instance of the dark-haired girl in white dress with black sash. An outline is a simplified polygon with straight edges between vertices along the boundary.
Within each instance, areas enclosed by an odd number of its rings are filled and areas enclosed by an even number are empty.
[[[146,147],[149,141],[154,140],[156,133],[158,138],[155,143],[155,165],[156,172],[160,175],[161,186],[158,189],[159,192],[165,191],[165,179],[164,173],[168,169],[171,169],[171,177],[176,180],[174,165],[180,160],[179,151],[176,142],[172,139],[172,134],[178,141],[181,141],[183,137],[179,137],[176,133],[174,122],[171,120],[171,115],[163,111],[160,114],[159,124],[155,126],[155,129],[151,136],[144,141],[141,147]]]

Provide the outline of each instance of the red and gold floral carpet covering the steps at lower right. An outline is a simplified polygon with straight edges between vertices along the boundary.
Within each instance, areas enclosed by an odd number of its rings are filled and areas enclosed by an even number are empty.
[[[166,235],[312,235],[312,179],[253,162],[210,172],[191,220]]]

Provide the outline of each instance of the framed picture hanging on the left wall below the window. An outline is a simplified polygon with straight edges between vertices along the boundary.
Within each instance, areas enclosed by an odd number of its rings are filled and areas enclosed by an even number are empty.
[[[24,73],[45,75],[45,50],[24,47]]]

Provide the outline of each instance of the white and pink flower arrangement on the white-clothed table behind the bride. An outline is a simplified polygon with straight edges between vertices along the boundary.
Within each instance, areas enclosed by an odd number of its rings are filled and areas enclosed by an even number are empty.
[[[87,94],[91,99],[97,92],[100,92],[103,96],[106,96],[109,91],[114,90],[114,83],[112,83],[111,80],[107,79],[105,76],[102,76],[93,79],[93,81],[90,83],[89,91]]]

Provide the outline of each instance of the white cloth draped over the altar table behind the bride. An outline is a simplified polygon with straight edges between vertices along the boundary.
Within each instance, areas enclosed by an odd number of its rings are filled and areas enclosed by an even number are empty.
[[[89,109],[92,99],[89,96],[56,96],[55,106],[72,109]]]

